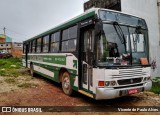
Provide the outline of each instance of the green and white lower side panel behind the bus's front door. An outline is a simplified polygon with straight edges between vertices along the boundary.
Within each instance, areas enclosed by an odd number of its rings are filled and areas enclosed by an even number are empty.
[[[72,89],[78,91],[78,60],[73,54],[29,54],[28,68],[31,63],[36,73],[58,83],[60,82],[59,72],[65,68],[70,74]]]

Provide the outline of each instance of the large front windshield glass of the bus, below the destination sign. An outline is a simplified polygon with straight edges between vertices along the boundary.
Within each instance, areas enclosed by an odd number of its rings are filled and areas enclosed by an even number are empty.
[[[103,33],[97,42],[98,66],[140,65],[147,58],[147,30],[113,23],[103,24]],[[148,59],[147,59],[148,60]]]

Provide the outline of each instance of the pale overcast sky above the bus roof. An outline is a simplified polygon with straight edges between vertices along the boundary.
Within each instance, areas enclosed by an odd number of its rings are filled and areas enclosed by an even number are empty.
[[[0,0],[0,34],[22,42],[83,13],[88,0]]]

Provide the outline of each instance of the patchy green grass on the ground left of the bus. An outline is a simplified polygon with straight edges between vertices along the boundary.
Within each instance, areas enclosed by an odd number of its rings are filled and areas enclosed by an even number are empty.
[[[30,76],[28,69],[22,67],[22,60],[19,58],[0,59],[0,83],[11,84],[19,88],[31,88],[38,86],[34,78]]]

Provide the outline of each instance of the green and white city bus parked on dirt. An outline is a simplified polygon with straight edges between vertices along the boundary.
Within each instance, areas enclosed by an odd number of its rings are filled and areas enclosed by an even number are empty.
[[[61,83],[66,95],[77,91],[95,100],[112,99],[152,87],[142,18],[92,8],[23,44],[23,66],[32,76]]]

